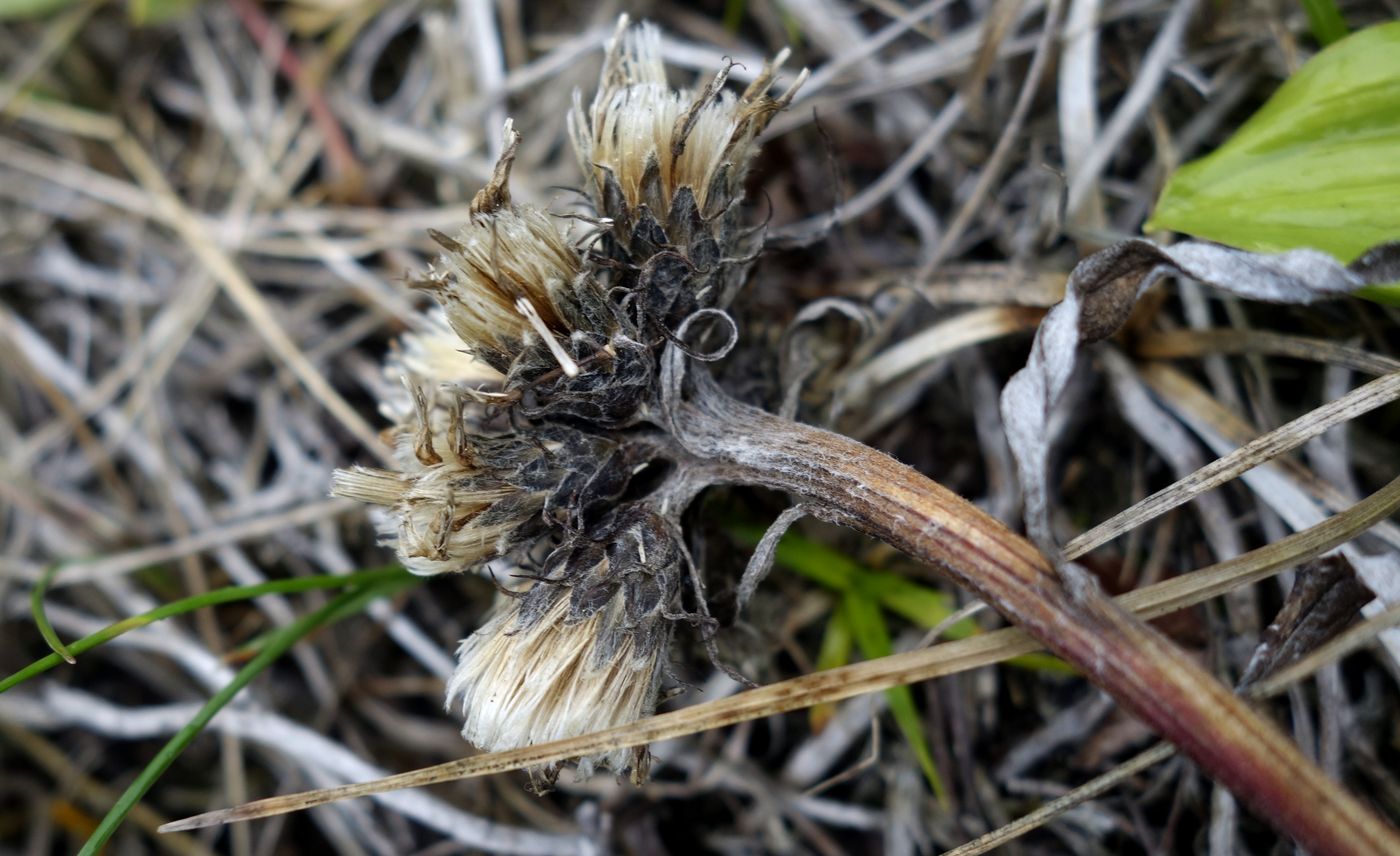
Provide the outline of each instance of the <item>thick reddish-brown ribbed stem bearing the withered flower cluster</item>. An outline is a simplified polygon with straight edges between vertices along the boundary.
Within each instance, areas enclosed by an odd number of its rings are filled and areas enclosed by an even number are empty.
[[[1071,591],[1029,541],[889,455],[696,381],[701,394],[680,405],[675,424],[724,481],[797,493],[829,520],[939,566],[1310,853],[1400,853],[1392,827],[1096,586]]]

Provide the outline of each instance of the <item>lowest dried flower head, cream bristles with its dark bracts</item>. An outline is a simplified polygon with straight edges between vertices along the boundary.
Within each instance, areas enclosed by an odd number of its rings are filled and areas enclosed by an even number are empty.
[[[475,745],[498,751],[577,737],[655,709],[679,553],[655,516],[623,517],[606,542],[580,538],[556,549],[546,577],[462,642],[448,707],[461,700],[462,736]],[[645,776],[644,752],[582,758],[580,773],[598,764]]]

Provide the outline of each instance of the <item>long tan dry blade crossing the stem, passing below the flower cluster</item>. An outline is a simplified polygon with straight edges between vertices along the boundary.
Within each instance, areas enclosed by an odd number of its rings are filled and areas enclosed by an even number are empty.
[[[1203,602],[1238,586],[1256,581],[1282,567],[1292,566],[1344,544],[1364,532],[1378,520],[1385,520],[1390,514],[1394,514],[1396,510],[1400,510],[1400,479],[1390,482],[1347,511],[1336,514],[1310,530],[1252,551],[1229,562],[1221,562],[1191,574],[1130,593],[1119,598],[1119,602],[1142,618],[1155,618],[1175,612],[1176,609]],[[501,773],[526,766],[560,762],[580,755],[596,755],[645,745],[648,743],[673,740],[687,734],[732,726],[739,722],[799,710],[823,702],[848,699],[888,689],[897,684],[914,684],[991,665],[1011,657],[1028,654],[1037,647],[1036,642],[1022,630],[997,630],[930,649],[804,675],[791,681],[742,692],[732,698],[652,716],[631,726],[620,726],[571,740],[560,740],[508,752],[493,752],[449,761],[374,782],[256,800],[234,808],[223,808],[175,821],[167,824],[162,829],[171,832],[199,829],[218,824],[273,817],[315,806],[325,806],[337,800]]]

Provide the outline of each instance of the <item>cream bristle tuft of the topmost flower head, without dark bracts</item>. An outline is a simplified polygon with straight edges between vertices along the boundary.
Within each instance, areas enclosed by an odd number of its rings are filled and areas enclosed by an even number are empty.
[[[787,50],[764,64],[742,95],[724,90],[728,69],[703,90],[672,90],[661,59],[661,31],[651,24],[629,27],[623,15],[592,105],[585,111],[575,91],[570,115],[574,149],[595,184],[601,213],[627,221],[629,213],[647,203],[665,217],[680,188],[692,189],[701,212],[727,207],[757,154],[757,134],[806,80],[804,70],[783,95],[769,97],[784,59]],[[659,199],[648,199],[651,170],[659,175]],[[609,178],[630,212],[606,210]]]

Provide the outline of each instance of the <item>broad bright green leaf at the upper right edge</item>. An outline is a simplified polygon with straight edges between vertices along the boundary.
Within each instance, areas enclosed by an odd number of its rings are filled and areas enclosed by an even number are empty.
[[[1400,21],[1362,29],[1289,77],[1224,146],[1172,175],[1147,231],[1350,262],[1400,238]],[[1393,296],[1385,286],[1364,293]]]

